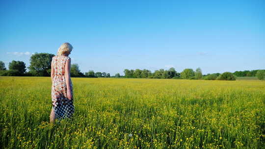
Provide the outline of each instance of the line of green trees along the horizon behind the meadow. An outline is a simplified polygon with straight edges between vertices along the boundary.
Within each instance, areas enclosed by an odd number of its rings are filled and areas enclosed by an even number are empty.
[[[0,75],[5,76],[50,76],[52,58],[55,56],[50,53],[35,53],[30,57],[30,66],[26,72],[26,64],[23,61],[15,61],[9,63],[9,70],[6,70],[5,65],[0,61]],[[71,76],[73,77],[126,77],[126,78],[166,78],[166,79],[205,79],[205,80],[235,80],[237,76],[257,76],[259,79],[265,79],[265,70],[252,70],[252,71],[236,71],[234,73],[225,72],[223,74],[207,74],[202,75],[202,70],[197,68],[195,71],[192,69],[185,69],[178,73],[174,68],[168,70],[160,69],[152,73],[147,69],[124,70],[124,76],[116,74],[110,76],[106,72],[94,72],[89,70],[86,73],[81,73],[78,64],[71,65]]]

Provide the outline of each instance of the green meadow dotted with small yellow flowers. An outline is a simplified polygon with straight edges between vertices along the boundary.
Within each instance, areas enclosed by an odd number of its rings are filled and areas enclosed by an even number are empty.
[[[49,124],[50,77],[0,76],[2,149],[265,149],[265,81],[72,78]]]

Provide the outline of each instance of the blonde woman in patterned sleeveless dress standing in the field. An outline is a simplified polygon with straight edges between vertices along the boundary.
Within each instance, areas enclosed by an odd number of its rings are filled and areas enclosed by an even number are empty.
[[[73,47],[64,43],[58,49],[57,55],[52,60],[52,101],[50,122],[56,118],[70,118],[74,113],[73,85],[70,77],[71,58],[68,55]]]

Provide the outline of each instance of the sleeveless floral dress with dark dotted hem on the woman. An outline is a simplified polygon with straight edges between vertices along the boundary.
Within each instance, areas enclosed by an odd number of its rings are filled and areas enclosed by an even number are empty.
[[[74,113],[73,85],[70,79],[70,87],[72,99],[67,98],[67,86],[65,80],[65,64],[68,56],[56,55],[53,56],[52,65],[54,69],[53,84],[52,84],[52,104],[56,118],[64,119],[72,117]]]

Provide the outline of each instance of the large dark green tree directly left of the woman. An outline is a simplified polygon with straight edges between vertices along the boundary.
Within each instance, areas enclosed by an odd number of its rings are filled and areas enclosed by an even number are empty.
[[[50,53],[35,53],[31,55],[30,66],[28,67],[30,73],[36,76],[48,76],[53,56],[54,54]]]

